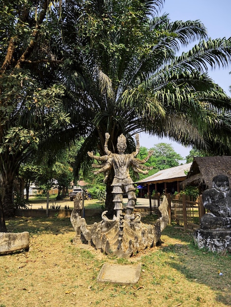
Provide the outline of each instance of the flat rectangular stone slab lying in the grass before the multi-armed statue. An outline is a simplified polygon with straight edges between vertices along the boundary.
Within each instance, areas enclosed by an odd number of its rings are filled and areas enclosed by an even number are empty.
[[[99,272],[97,281],[134,284],[139,281],[140,275],[141,263],[131,265],[105,263]]]

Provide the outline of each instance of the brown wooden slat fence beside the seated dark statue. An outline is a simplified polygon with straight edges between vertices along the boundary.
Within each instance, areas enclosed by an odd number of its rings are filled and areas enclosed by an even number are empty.
[[[196,202],[193,202],[186,195],[166,195],[169,203],[169,223],[175,222],[177,225],[183,226],[184,230],[193,230],[200,225],[201,217],[205,214],[202,203],[202,195]],[[150,214],[158,211],[162,197],[157,194],[149,198]]]

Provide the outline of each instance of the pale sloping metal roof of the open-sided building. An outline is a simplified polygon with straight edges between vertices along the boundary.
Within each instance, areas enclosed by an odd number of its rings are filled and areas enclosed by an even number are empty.
[[[188,172],[190,169],[191,163],[175,166],[168,168],[166,170],[159,171],[145,179],[138,181],[137,183],[161,183],[161,182],[173,182],[173,181],[182,181],[186,179],[185,172]]]

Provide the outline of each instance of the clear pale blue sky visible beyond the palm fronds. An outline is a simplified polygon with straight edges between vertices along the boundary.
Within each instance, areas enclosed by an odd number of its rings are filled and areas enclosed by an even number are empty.
[[[172,21],[200,20],[207,28],[208,36],[212,39],[231,37],[231,0],[165,0],[161,13],[168,13]],[[231,75],[229,72],[231,72],[231,67],[208,71],[208,74],[228,95],[231,95],[229,90]],[[161,142],[171,143],[175,152],[180,153],[182,157],[188,155],[191,149],[169,139],[140,134],[141,146],[148,149]]]

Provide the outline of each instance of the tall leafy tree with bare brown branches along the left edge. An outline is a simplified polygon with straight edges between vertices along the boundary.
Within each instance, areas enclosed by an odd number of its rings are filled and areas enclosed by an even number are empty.
[[[62,55],[54,40],[60,37],[55,26],[58,9],[51,9],[51,4],[48,0],[0,1],[2,218],[14,213],[13,181],[20,164],[39,144],[43,142],[45,148],[48,137],[70,124],[63,107],[64,88],[54,74]]]

